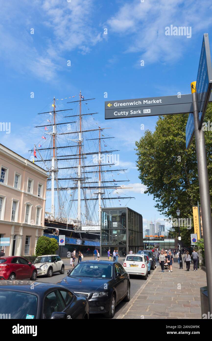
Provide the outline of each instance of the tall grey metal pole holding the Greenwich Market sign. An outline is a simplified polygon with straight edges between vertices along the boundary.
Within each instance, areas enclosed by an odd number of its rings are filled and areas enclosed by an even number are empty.
[[[199,178],[199,193],[202,212],[202,229],[204,234],[206,278],[208,286],[209,311],[212,312],[212,266],[211,266],[211,245],[212,245],[212,217],[211,201],[208,181],[208,166],[206,157],[205,136],[202,129],[198,129],[199,111],[196,92],[192,93],[194,109],[194,129],[196,139],[197,166]]]

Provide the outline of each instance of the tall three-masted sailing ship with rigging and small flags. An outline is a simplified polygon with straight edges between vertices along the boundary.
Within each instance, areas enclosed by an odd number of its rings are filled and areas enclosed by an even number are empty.
[[[72,100],[70,100],[72,99]],[[79,95],[53,98],[38,113],[40,140],[33,162],[48,172],[45,234],[55,231],[83,240],[100,238],[101,208],[127,206],[129,179],[119,166],[111,128],[100,127],[95,99]],[[58,234],[58,233],[57,233]]]

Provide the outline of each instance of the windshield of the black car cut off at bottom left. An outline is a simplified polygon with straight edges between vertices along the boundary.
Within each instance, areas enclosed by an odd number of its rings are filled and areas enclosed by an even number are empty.
[[[1,318],[32,318],[36,317],[37,297],[33,294],[13,290],[0,291]]]

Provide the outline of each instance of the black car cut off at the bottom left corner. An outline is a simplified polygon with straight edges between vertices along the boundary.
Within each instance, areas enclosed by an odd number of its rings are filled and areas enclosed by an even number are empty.
[[[0,314],[10,314],[6,318],[24,320],[87,319],[89,303],[86,297],[78,296],[61,285],[34,281],[1,281]]]

